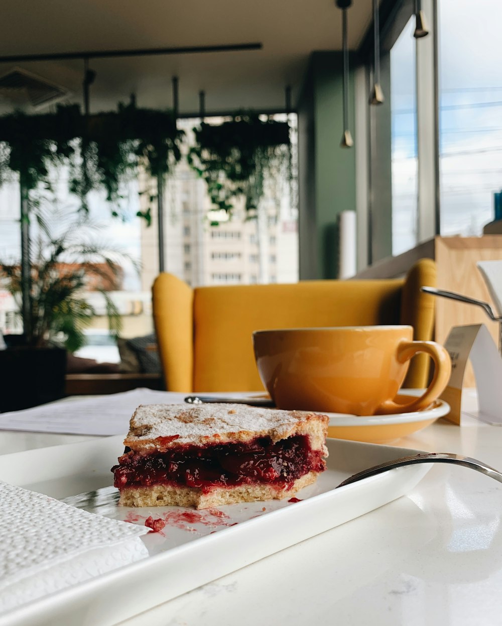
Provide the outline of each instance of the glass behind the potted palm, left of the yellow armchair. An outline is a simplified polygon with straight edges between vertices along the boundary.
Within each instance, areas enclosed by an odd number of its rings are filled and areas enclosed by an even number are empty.
[[[79,218],[83,216],[81,200],[69,193],[69,175],[68,168],[64,166],[49,168],[51,184],[48,188],[39,185],[31,192],[32,200],[36,201],[29,227],[32,261],[34,267],[41,266],[56,249],[49,242],[64,237],[61,251],[57,253],[51,269],[54,280],[56,274],[63,279],[66,275],[83,272],[83,289],[73,291],[71,295],[85,300],[95,312],[90,321],[79,322],[84,339],[83,345],[74,350],[74,355],[94,359],[98,364],[118,364],[121,359],[116,339],[109,331],[106,299],[102,291],[107,292],[121,317],[122,337],[145,336],[153,332],[151,292],[141,289],[139,270],[143,256],[141,222],[144,220],[136,217],[139,210],[138,184],[133,181],[121,190],[122,218],[112,216],[113,207],[106,202],[104,191],[90,192],[87,198],[89,222],[80,223]],[[6,259],[10,265],[19,265],[21,258],[19,198],[19,182],[6,183],[0,188],[0,259]],[[43,217],[46,230],[39,227],[37,213]],[[93,253],[94,248],[99,251],[98,255]],[[104,257],[113,260],[115,274]],[[89,272],[89,263],[96,264],[95,271]],[[55,282],[52,284],[56,285]],[[23,329],[16,314],[18,302],[9,296],[6,286],[0,284],[0,331],[4,334],[20,333]],[[51,334],[50,339],[63,342],[64,334]],[[86,371],[82,368],[94,366],[91,362],[74,359],[69,367],[71,371],[79,372]]]

